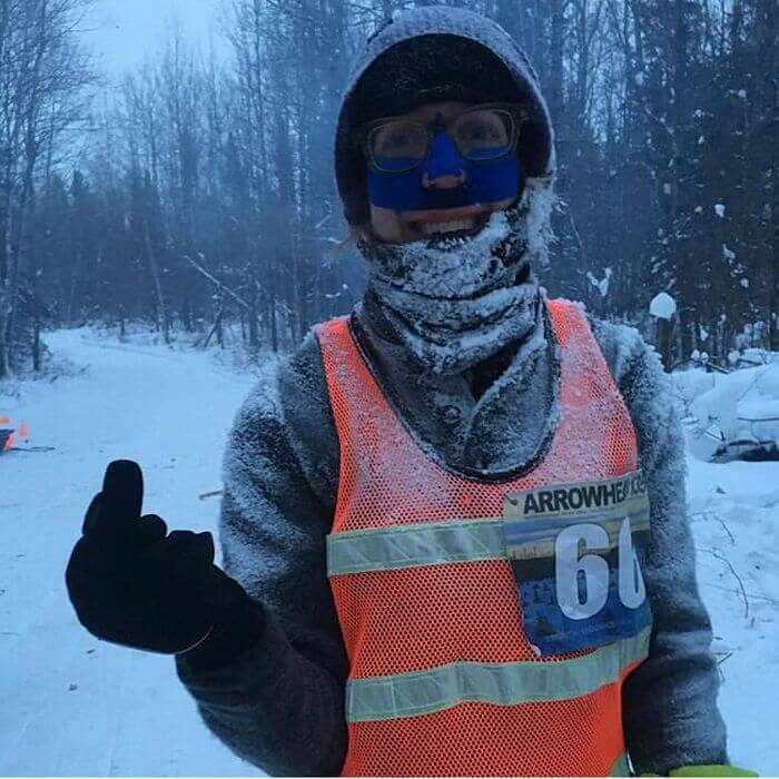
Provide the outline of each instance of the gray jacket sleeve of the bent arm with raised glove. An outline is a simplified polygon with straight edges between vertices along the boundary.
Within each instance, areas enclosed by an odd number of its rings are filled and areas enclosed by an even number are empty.
[[[225,571],[262,604],[265,628],[216,664],[177,657],[206,724],[278,776],[332,776],[346,752],[347,661],[326,576],[338,451],[313,335],[252,392],[224,460]],[[259,608],[259,607],[258,607]]]

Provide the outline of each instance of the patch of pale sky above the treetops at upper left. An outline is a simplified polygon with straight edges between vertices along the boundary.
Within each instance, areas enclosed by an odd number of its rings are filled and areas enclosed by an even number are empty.
[[[220,7],[221,0],[96,0],[86,37],[106,71],[118,77],[159,49],[174,21],[207,51],[209,36],[219,39]]]

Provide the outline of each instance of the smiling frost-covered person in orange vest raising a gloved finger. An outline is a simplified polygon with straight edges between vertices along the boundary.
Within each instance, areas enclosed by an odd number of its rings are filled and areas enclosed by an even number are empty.
[[[67,572],[80,620],[175,654],[272,775],[736,773],[667,376],[533,273],[554,151],[526,57],[465,10],[395,14],[335,167],[366,293],[239,411],[224,571],[111,463]]]

